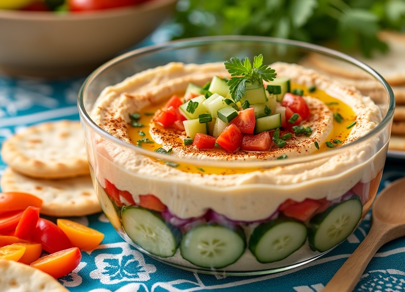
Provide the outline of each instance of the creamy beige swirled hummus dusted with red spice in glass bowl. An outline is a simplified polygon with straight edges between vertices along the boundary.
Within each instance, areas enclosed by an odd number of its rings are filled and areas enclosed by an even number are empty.
[[[316,86],[353,109],[357,116],[356,124],[343,143],[358,139],[382,120],[374,102],[353,88],[335,83],[314,70],[296,64],[274,63],[270,67],[276,70],[277,76],[289,76],[295,84]],[[107,87],[97,100],[92,118],[111,135],[131,143],[128,134],[129,114],[184,92],[190,82],[204,85],[214,75],[227,76],[223,63],[169,63],[146,70]],[[245,153],[240,154],[240,158],[268,159],[269,156],[274,158],[284,153],[299,156],[314,152],[314,141],[320,144],[326,140],[333,118],[327,106],[310,96],[305,98],[314,111],[307,122],[314,130],[310,137],[294,139],[290,148],[281,149],[279,153],[265,157]],[[169,143],[165,140],[168,139],[167,133],[158,135],[155,127],[152,127],[151,135],[156,140],[160,137],[164,145]],[[335,155],[332,150],[328,158],[229,175],[183,171],[141,155],[130,145],[127,148],[102,138],[94,140],[97,142],[93,141],[95,145],[90,163],[97,165],[96,177],[102,186],[104,179],[108,179],[119,190],[131,192],[136,202],[140,194],[154,194],[181,218],[197,217],[215,206],[218,213],[230,219],[254,221],[269,217],[288,198],[296,201],[305,198],[335,200],[358,181],[370,181],[384,165],[384,145],[388,137],[376,136],[374,140],[358,144],[346,153]],[[182,149],[176,148],[175,155],[190,155]],[[190,156],[195,158],[194,154]],[[207,156],[197,155],[197,158],[206,159]],[[218,156],[215,155],[215,158],[218,159]],[[226,159],[234,158],[227,155]],[[197,167],[198,163],[195,165]],[[232,168],[232,161],[229,168]]]

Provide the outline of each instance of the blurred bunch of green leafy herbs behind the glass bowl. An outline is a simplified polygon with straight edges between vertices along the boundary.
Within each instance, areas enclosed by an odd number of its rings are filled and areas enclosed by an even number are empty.
[[[371,57],[387,50],[377,33],[405,31],[404,0],[180,0],[172,39],[265,35]]]

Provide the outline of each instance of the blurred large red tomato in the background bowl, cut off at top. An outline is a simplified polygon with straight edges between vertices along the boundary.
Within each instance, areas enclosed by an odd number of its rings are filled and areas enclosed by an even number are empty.
[[[70,11],[89,11],[137,5],[145,0],[67,0]]]

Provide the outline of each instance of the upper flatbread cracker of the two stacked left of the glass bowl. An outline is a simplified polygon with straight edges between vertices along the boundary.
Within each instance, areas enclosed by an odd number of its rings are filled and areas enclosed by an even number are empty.
[[[38,178],[89,174],[89,162],[78,121],[28,127],[6,140],[2,158],[15,171]]]

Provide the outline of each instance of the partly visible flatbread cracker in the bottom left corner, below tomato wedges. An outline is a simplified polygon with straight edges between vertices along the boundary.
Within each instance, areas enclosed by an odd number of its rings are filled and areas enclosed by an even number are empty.
[[[0,259],[2,292],[69,292],[47,273],[19,262]]]

